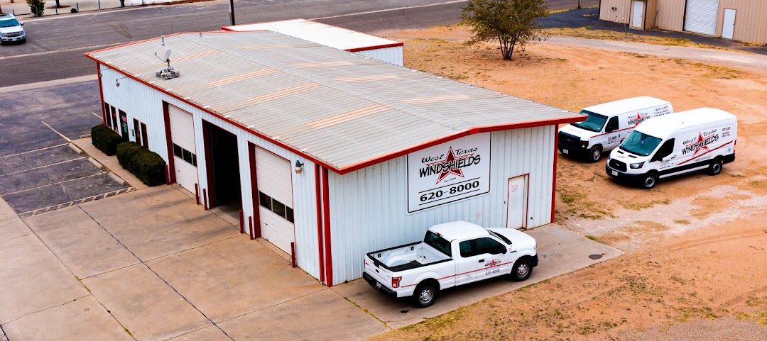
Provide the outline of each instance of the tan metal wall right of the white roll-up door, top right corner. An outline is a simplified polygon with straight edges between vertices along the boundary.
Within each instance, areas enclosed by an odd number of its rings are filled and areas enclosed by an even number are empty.
[[[722,36],[725,8],[736,11],[732,40],[767,44],[767,2],[765,0],[719,0],[716,37]]]

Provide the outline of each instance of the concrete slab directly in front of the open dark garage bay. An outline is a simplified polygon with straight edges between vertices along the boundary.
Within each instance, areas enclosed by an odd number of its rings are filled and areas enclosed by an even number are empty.
[[[239,235],[239,226],[205,211],[173,186],[142,189],[81,207],[142,261]]]

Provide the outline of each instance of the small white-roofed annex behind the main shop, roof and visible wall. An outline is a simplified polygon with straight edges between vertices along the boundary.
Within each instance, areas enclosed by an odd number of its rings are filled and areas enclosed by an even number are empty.
[[[306,19],[271,21],[258,24],[222,26],[224,31],[272,31],[294,38],[311,41],[385,61],[400,67],[404,65],[403,43],[376,37],[362,32],[347,30]]]

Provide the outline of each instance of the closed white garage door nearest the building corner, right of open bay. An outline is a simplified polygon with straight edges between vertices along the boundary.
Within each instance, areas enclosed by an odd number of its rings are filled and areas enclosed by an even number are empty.
[[[290,254],[295,240],[291,163],[265,149],[255,149],[261,236]]]

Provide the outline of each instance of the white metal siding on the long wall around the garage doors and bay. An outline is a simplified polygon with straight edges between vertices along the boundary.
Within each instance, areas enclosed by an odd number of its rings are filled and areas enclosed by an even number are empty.
[[[123,77],[108,66],[101,65],[100,77],[104,91],[104,101],[114,105],[114,107],[123,109],[128,120],[133,117],[143,123],[146,123],[146,130],[149,133],[150,141],[166,141],[165,121],[163,117],[163,100],[193,113],[195,126],[196,146],[200,151],[197,155],[197,168],[206,169],[206,160],[202,146],[202,120],[206,120],[216,126],[221,127],[237,136],[238,155],[240,159],[240,184],[242,190],[242,211],[245,216],[245,228],[248,229],[249,218],[253,217],[253,201],[250,182],[250,161],[245,156],[249,156],[248,143],[254,143],[263,149],[295,162],[295,160],[304,163],[303,172],[300,175],[292,173],[293,177],[293,209],[295,215],[295,247],[296,263],[298,267],[304,269],[308,274],[319,278],[319,256],[318,256],[318,238],[317,238],[317,200],[314,191],[314,163],[297,156],[293,152],[275,145],[268,140],[253,135],[239,126],[225,122],[216,116],[212,116],[206,111],[199,110],[189,103],[183,102],[171,97],[166,93],[148,87],[136,80],[124,78],[120,80],[120,87],[115,87],[115,80]],[[163,80],[157,80],[158,86],[162,87]],[[168,149],[165,143],[150,143],[150,150],[156,152],[168,162]],[[173,157],[173,155],[171,155]],[[202,195],[202,189],[208,189],[206,176],[199,177],[199,193]],[[199,208],[202,209],[202,206]],[[258,260],[252,260],[258,261]]]

